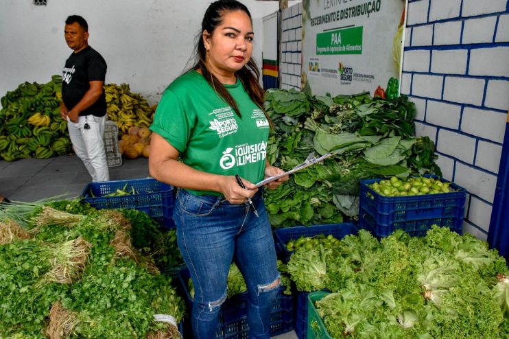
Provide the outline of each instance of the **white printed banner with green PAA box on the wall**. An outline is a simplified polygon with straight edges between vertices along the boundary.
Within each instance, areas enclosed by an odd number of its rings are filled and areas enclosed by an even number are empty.
[[[405,0],[303,0],[303,90],[375,93],[401,78]]]

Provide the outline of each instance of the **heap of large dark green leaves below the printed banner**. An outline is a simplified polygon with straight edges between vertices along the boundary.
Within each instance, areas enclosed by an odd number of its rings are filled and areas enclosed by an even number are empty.
[[[275,125],[267,149],[271,164],[288,170],[311,152],[336,153],[266,191],[274,227],[338,223],[343,214],[355,218],[364,178],[440,176],[434,143],[414,137],[416,110],[404,95],[382,100],[368,93],[319,97],[269,90],[265,109]]]

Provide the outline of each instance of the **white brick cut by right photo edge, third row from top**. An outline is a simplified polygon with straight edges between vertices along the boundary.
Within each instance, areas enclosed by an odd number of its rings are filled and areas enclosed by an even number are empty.
[[[509,47],[472,49],[469,74],[509,78]]]

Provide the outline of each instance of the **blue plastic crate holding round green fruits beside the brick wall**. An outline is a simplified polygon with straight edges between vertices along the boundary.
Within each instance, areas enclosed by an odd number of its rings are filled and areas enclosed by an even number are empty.
[[[438,176],[426,176],[438,178]],[[432,225],[449,227],[461,233],[466,191],[451,183],[453,192],[423,196],[382,196],[368,185],[383,179],[361,181],[359,226],[377,237],[386,237],[396,229],[412,236],[426,235]],[[440,178],[442,182],[448,182]]]

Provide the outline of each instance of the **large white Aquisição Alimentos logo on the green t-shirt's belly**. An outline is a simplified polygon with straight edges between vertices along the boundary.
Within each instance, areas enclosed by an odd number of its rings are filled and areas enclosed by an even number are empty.
[[[233,152],[234,150],[235,152]],[[244,166],[250,163],[257,163],[258,161],[265,161],[265,156],[267,156],[267,143],[264,141],[252,145],[243,143],[242,145],[235,146],[235,149],[226,148],[219,161],[219,165],[222,169],[230,169],[235,165]]]

